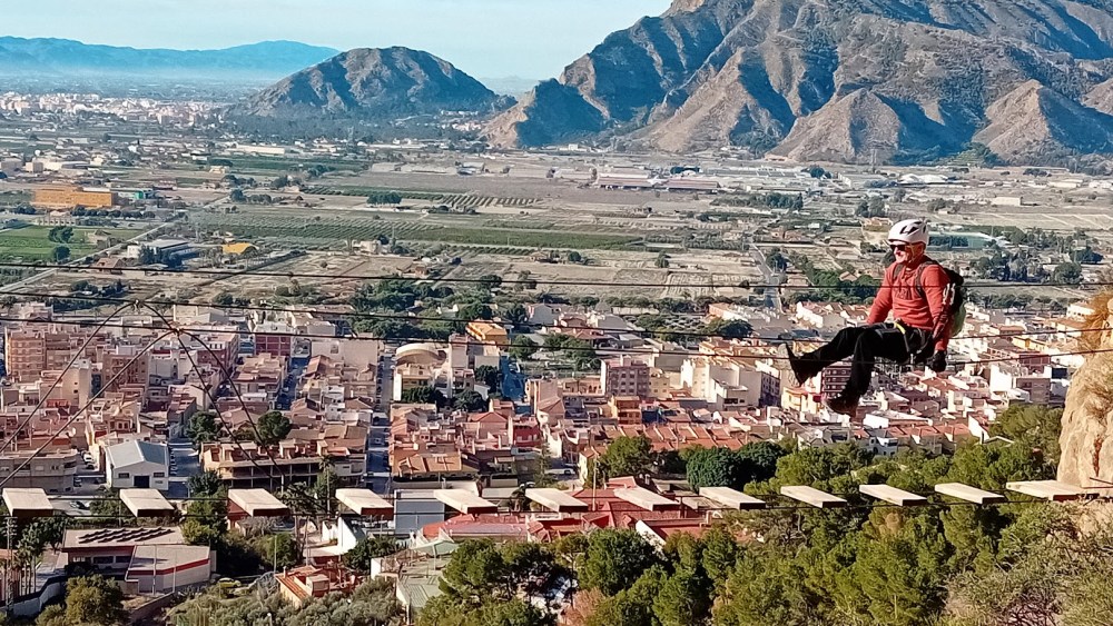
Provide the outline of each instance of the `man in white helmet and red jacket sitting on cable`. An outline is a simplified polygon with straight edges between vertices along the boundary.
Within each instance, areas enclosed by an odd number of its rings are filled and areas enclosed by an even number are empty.
[[[925,254],[927,222],[909,219],[889,230],[889,247],[896,261],[885,270],[885,279],[874,298],[866,326],[839,330],[817,350],[788,359],[798,384],[804,385],[824,368],[851,358],[850,379],[843,393],[826,400],[827,407],[855,415],[858,400],[869,388],[876,359],[926,362],[934,371],[947,368],[951,340],[951,278],[937,261]],[[886,322],[889,312],[894,321]]]

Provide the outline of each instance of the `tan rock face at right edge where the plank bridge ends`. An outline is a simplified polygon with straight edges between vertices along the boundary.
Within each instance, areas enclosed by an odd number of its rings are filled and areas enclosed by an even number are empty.
[[[1101,305],[1106,315],[1092,327],[1113,327],[1113,300]],[[1113,349],[1113,331],[1101,332],[1087,347]],[[1060,446],[1060,480],[1081,487],[1113,484],[1113,352],[1090,355],[1071,379]]]

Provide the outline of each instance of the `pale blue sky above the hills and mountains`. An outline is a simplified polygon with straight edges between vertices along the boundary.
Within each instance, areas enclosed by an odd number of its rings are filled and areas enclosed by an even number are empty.
[[[0,34],[135,48],[270,39],[427,50],[476,77],[550,78],[669,0],[11,0]]]

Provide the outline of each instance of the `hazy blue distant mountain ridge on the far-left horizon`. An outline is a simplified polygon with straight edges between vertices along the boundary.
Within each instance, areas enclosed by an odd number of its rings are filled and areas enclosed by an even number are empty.
[[[0,37],[0,76],[166,77],[276,80],[336,54],[332,48],[264,41],[224,50],[167,50],[93,46],[68,39]]]

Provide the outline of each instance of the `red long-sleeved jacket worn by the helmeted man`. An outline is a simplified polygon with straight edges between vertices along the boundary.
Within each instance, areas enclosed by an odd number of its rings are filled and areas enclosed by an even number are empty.
[[[885,270],[885,279],[874,298],[866,324],[880,324],[888,317],[913,328],[923,328],[932,332],[936,350],[946,350],[951,341],[951,310],[946,304],[946,289],[951,284],[947,272],[938,264],[929,264],[920,275],[920,287],[916,289],[916,275],[927,257],[920,257],[915,264],[903,268],[902,264],[893,264]],[[900,270],[899,274],[897,270]]]

